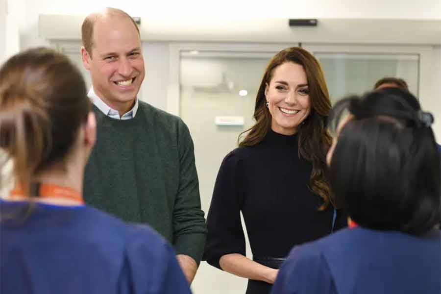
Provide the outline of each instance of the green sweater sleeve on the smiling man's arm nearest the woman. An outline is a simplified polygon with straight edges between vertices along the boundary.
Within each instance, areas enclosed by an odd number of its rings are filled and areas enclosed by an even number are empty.
[[[204,212],[193,141],[185,123],[178,122],[179,186],[173,209],[173,245],[176,254],[188,255],[199,264],[206,237]]]

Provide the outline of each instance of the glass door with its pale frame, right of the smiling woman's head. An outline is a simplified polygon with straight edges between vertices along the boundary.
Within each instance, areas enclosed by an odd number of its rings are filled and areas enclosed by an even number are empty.
[[[417,97],[431,92],[431,50],[418,46],[309,45],[322,66],[331,101],[372,90],[383,77],[404,79]]]

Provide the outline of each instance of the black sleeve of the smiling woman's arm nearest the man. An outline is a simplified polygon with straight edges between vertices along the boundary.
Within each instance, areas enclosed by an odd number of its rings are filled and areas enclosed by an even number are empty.
[[[245,255],[241,222],[243,162],[234,151],[222,161],[207,215],[207,244],[204,260],[221,269],[220,258],[229,253]]]

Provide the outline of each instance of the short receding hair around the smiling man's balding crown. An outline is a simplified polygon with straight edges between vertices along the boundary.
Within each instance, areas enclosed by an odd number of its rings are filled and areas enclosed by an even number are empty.
[[[94,46],[94,25],[99,18],[105,16],[119,16],[119,17],[127,17],[130,19],[132,24],[135,26],[136,31],[141,36],[139,27],[136,25],[133,18],[128,15],[125,11],[118,9],[107,7],[102,12],[95,12],[89,14],[83,21],[83,25],[81,25],[81,41],[83,43],[84,48],[89,53],[90,57],[92,57],[92,47]]]

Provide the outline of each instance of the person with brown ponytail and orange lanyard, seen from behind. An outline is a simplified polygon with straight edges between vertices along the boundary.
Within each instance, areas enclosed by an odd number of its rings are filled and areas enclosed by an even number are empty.
[[[0,148],[15,187],[0,200],[0,293],[188,293],[173,249],[147,226],[83,203],[96,140],[81,73],[52,49],[0,69]]]

